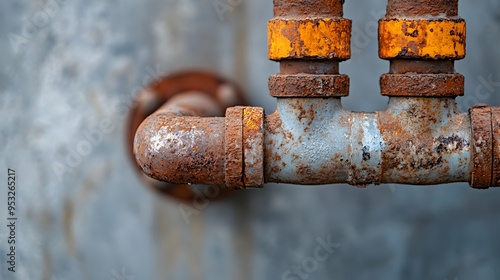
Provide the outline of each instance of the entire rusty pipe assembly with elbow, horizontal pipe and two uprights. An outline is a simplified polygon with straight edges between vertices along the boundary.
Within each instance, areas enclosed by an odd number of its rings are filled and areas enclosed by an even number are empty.
[[[356,186],[469,182],[500,186],[500,108],[461,113],[466,24],[458,0],[389,0],[379,21],[385,111],[342,108],[349,77],[351,21],[344,0],[274,0],[268,22],[269,78],[277,110],[228,107],[235,90],[180,91],[139,126],[138,165],[171,184],[262,188],[266,182]],[[229,101],[228,101],[229,100]]]

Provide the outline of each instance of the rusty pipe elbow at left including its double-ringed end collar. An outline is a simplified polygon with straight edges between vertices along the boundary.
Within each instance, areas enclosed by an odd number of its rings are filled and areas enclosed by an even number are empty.
[[[264,186],[263,109],[231,107],[221,118],[173,108],[167,103],[137,130],[134,153],[144,173],[173,184]]]

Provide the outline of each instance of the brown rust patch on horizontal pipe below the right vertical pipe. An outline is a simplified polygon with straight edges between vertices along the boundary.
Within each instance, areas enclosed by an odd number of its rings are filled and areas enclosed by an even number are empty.
[[[435,136],[437,108],[432,99],[421,98],[407,104],[404,110],[394,114],[379,112],[379,128],[384,139],[382,150],[382,182],[434,184],[433,176],[423,174],[447,174],[448,155],[469,149],[467,139],[455,134]],[[445,132],[443,132],[445,133]]]

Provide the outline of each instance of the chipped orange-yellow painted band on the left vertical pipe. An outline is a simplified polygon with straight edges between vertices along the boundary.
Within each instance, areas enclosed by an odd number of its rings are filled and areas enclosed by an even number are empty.
[[[269,59],[351,57],[351,21],[347,19],[273,19],[268,22]]]

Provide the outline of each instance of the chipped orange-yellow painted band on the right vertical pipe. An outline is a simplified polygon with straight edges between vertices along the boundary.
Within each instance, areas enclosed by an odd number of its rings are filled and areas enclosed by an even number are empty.
[[[462,59],[466,25],[463,19],[379,22],[379,56],[384,59]]]

